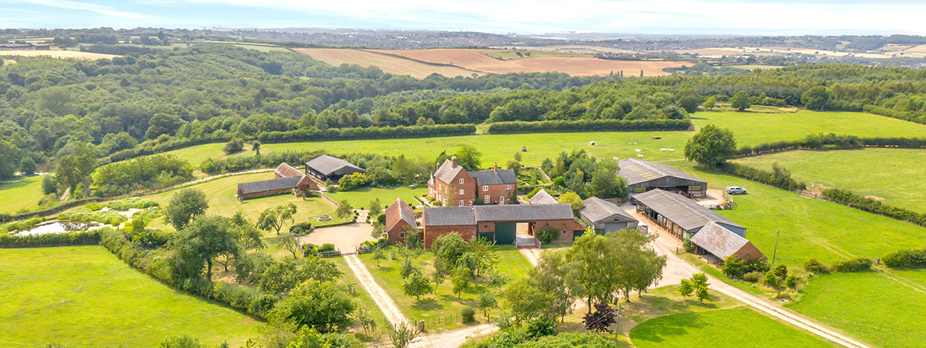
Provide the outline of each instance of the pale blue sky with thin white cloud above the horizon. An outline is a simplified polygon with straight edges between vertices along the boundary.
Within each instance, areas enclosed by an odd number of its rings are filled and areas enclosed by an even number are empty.
[[[0,28],[920,34],[926,1],[0,0]]]

